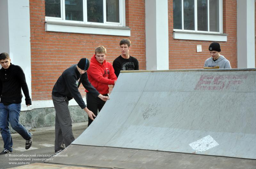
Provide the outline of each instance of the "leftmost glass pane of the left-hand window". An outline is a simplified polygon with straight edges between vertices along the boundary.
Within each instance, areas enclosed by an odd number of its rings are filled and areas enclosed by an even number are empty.
[[[60,18],[60,0],[45,0],[45,16]]]

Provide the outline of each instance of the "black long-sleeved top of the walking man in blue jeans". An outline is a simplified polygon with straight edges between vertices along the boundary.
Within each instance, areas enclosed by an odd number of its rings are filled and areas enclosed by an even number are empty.
[[[28,85],[21,67],[11,65],[8,69],[0,69],[0,98],[1,103],[21,103],[21,88],[25,95],[26,105],[31,104]]]

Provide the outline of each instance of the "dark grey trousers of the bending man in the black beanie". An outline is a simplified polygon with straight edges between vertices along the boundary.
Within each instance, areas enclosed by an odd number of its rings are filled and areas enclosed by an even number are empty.
[[[55,152],[68,147],[75,138],[72,133],[72,120],[68,110],[68,100],[66,97],[56,97],[52,95],[52,101],[56,111],[55,116]],[[63,145],[65,144],[65,147]]]

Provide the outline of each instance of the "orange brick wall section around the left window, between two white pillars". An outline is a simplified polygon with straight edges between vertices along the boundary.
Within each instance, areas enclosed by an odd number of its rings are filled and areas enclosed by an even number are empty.
[[[49,100],[53,85],[60,74],[82,57],[91,58],[95,47],[107,49],[106,60],[120,55],[119,41],[132,41],[131,56],[146,69],[145,1],[126,0],[126,26],[131,28],[131,37],[92,35],[79,33],[45,32],[44,0],[30,0],[31,76],[32,100]],[[136,5],[134,5],[136,4]],[[84,96],[83,87],[79,88]]]

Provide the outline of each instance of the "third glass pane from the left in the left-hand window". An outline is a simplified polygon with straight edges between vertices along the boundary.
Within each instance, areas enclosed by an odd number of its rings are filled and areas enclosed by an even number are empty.
[[[103,23],[103,0],[87,0],[87,21]]]

